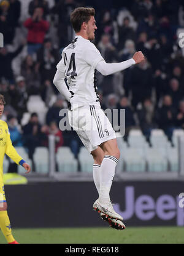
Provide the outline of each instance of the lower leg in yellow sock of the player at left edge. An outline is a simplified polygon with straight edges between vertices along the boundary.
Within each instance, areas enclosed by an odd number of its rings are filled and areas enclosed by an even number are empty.
[[[10,220],[7,215],[7,203],[0,202],[0,228],[9,244],[18,244],[12,236]]]

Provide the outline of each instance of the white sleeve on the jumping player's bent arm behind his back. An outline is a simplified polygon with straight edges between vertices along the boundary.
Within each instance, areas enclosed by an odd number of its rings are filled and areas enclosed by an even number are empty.
[[[60,94],[62,94],[64,98],[66,98],[66,100],[69,102],[72,94],[69,91],[69,86],[67,85],[67,81],[64,76],[64,70],[66,68],[64,65],[64,53],[62,53],[62,59],[56,67],[58,70],[56,71],[55,77],[53,79],[53,84],[55,84]]]

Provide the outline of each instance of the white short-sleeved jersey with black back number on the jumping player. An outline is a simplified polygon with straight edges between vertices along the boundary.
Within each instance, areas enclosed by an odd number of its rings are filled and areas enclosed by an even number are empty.
[[[64,48],[57,69],[64,72],[65,86],[71,91],[71,110],[84,105],[98,105],[99,95],[96,86],[96,65],[102,58],[92,42],[82,36]]]

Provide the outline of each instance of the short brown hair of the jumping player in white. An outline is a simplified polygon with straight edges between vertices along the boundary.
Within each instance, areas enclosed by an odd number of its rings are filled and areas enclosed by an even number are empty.
[[[75,33],[79,32],[83,22],[88,23],[91,16],[95,15],[93,7],[78,7],[75,8],[71,13],[71,23]]]

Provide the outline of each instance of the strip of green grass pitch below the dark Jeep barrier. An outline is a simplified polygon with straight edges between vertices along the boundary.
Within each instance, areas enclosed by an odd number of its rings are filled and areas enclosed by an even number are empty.
[[[112,228],[21,228],[13,229],[21,244],[149,244],[184,243],[184,227]],[[6,243],[0,232],[0,244]]]

